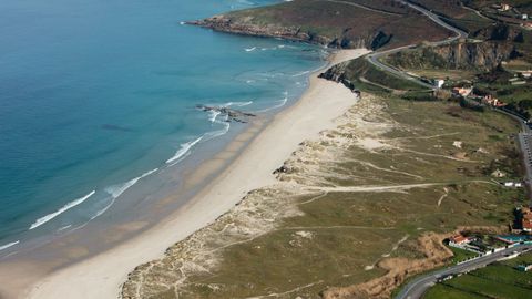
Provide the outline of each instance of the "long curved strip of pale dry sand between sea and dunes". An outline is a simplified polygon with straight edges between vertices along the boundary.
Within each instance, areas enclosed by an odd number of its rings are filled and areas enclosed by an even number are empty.
[[[365,49],[342,50],[330,56],[330,64],[366,53]],[[12,296],[40,299],[116,298],[120,286],[136,266],[161,257],[166,248],[214,221],[249,190],[276,184],[273,172],[297,150],[298,144],[335,127],[335,120],[355,103],[356,97],[348,89],[313,74],[303,97],[254,135],[226,171],[184,207],[135,238],[54,271],[22,293]],[[254,130],[253,126],[250,130]],[[249,135],[249,132],[245,134]],[[234,143],[242,143],[242,138],[237,137]],[[234,146],[229,144],[226,151],[232,151]]]

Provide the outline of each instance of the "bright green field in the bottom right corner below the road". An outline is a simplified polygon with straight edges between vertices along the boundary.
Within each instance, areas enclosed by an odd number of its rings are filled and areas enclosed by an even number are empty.
[[[423,298],[529,298],[532,291],[532,275],[514,268],[523,262],[532,264],[532,255],[498,261],[485,268],[438,283]]]

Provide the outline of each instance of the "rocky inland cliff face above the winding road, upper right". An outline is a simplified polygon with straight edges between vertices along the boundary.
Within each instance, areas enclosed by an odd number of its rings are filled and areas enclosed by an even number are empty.
[[[511,42],[458,42],[438,48],[421,48],[390,55],[390,64],[403,69],[492,70],[519,53]]]

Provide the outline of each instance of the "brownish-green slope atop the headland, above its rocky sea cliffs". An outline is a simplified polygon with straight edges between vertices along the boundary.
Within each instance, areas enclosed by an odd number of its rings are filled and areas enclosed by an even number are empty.
[[[349,6],[345,2],[360,3],[385,12]],[[393,12],[393,14],[387,12]],[[392,35],[390,47],[417,43],[422,40],[442,40],[449,35],[448,31],[421,17],[417,11],[389,0],[371,2],[296,0],[226,16],[236,22],[296,27],[329,39],[368,39],[382,31]]]

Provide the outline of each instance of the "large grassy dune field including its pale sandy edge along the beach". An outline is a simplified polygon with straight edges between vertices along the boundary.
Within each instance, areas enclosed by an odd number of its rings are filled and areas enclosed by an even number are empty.
[[[494,169],[521,175],[512,137],[519,128],[503,115],[367,95],[346,117],[320,141],[301,145],[285,163],[279,186],[250,193],[165,258],[136,269],[124,297],[349,292],[387,274],[382,265],[409,269],[403,259],[423,260],[418,238],[427,233],[503,227],[523,203],[522,189],[490,177]],[[396,282],[407,276],[399,272]]]

